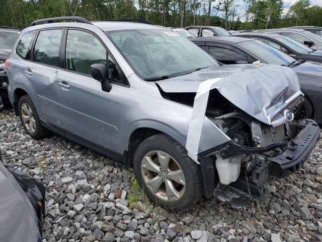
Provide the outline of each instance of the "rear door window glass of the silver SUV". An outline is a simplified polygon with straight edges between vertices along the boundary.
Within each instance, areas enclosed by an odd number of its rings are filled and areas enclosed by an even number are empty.
[[[39,32],[34,48],[34,62],[59,67],[62,31],[62,29],[50,29]]]

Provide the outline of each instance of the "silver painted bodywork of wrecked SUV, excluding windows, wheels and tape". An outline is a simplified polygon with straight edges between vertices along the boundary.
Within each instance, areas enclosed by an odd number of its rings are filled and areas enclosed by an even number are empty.
[[[41,120],[61,130],[58,134],[71,140],[81,138],[85,145],[90,142],[120,156],[128,150],[131,134],[140,128],[163,132],[186,146],[193,108],[163,98],[158,86],[165,92],[197,92],[201,82],[223,78],[217,83],[218,91],[266,124],[269,124],[268,113],[299,91],[297,76],[291,69],[269,65],[215,67],[156,83],[143,81],[102,30],[159,28],[153,25],[52,23],[26,28],[21,36],[28,31],[49,27],[72,27],[95,33],[108,47],[129,86],[112,83],[112,90],[107,93],[102,91],[100,82],[89,76],[26,61],[16,53],[18,39],[8,71],[11,103],[15,102],[17,88],[21,88],[33,100]],[[32,76],[28,76],[26,70]],[[68,82],[70,88],[59,86],[58,82],[62,81]],[[198,153],[229,140],[204,116]]]

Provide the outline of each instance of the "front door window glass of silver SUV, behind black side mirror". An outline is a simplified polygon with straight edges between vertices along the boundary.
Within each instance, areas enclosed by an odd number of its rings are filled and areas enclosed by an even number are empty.
[[[88,32],[68,30],[65,52],[67,70],[91,75],[91,65],[106,63],[107,51],[101,42]],[[114,74],[116,78],[116,74]]]

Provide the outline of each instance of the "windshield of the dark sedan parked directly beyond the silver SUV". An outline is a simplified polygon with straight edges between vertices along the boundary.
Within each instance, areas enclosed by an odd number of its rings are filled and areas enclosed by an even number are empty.
[[[293,57],[269,46],[268,44],[264,44],[259,40],[244,41],[238,43],[237,45],[246,49],[250,54],[254,54],[260,59],[260,61],[267,64],[287,66],[295,61]]]

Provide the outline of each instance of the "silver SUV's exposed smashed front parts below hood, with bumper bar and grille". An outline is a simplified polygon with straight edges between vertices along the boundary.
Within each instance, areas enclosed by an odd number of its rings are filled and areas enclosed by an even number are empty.
[[[298,170],[320,134],[313,120],[299,119],[302,104],[301,93],[294,94],[268,114],[270,125],[238,109],[219,116],[206,112],[231,139],[198,154],[206,197],[247,206],[264,197],[263,187],[272,178]]]

